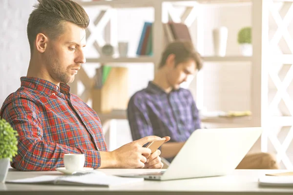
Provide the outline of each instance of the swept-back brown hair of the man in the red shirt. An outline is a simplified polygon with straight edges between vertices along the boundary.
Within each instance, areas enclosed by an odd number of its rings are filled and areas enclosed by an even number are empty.
[[[38,33],[56,39],[64,32],[63,22],[69,21],[85,29],[89,17],[84,8],[73,0],[38,0],[27,23],[27,38],[31,54]]]

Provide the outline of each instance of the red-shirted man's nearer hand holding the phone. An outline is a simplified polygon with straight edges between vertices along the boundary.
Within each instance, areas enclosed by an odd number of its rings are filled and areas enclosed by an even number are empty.
[[[161,137],[157,137],[157,136],[143,137],[141,139],[138,139],[136,141],[123,145],[120,148],[110,152],[111,153],[110,158],[113,159],[112,161],[113,163],[111,167],[127,168],[127,169],[144,168],[146,163],[146,158],[151,157],[150,156],[151,151],[150,149],[143,147],[143,145],[145,145],[147,142],[157,141],[161,139],[162,139]],[[158,152],[156,153],[156,155],[158,156]],[[156,156],[156,155],[153,155],[153,156]],[[160,158],[158,160],[160,160]],[[102,159],[102,165],[103,165],[103,159]],[[107,166],[105,165],[105,167]]]

